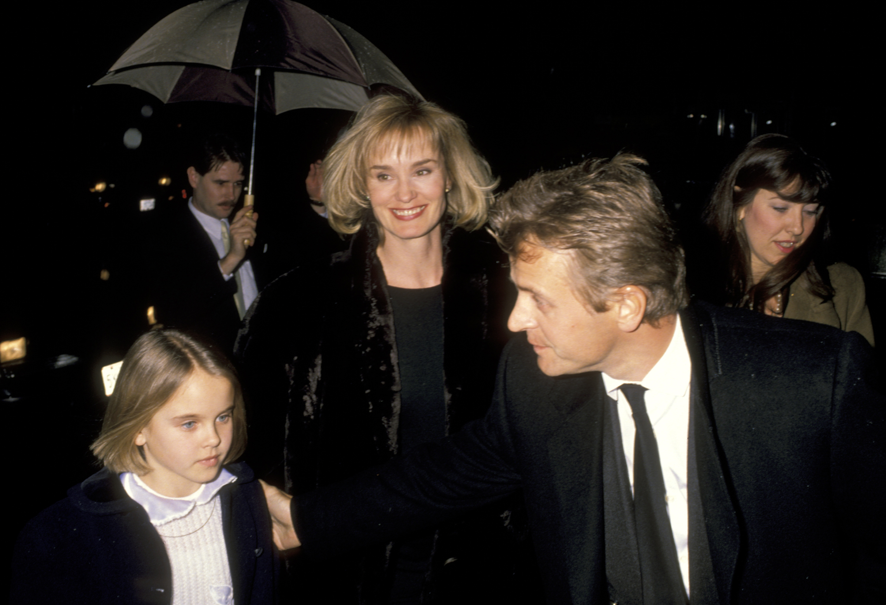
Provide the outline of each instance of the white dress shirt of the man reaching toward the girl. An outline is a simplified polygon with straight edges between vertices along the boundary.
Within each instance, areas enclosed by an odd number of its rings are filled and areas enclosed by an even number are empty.
[[[618,424],[621,442],[625,447],[627,476],[633,493],[633,440],[636,428],[631,407],[618,387],[626,382],[602,373],[603,385],[612,399],[618,402]],[[680,317],[671,338],[671,344],[639,383],[648,389],[644,393],[649,423],[656,436],[658,457],[662,465],[666,507],[671,519],[673,542],[677,547],[680,574],[689,593],[689,506],[687,489],[687,461],[689,448],[689,383],[692,380],[692,362],[686,348],[686,338],[680,326]]]

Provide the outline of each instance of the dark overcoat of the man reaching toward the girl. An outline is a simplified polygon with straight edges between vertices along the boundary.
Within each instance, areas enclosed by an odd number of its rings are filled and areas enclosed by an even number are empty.
[[[692,602],[883,602],[886,404],[870,347],[713,306],[682,325]],[[605,398],[598,372],[545,376],[515,338],[482,421],[293,500],[305,554],[389,539],[522,486],[548,602],[609,602]]]

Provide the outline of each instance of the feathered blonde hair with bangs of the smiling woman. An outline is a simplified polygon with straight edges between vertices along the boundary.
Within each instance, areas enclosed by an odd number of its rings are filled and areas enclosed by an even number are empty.
[[[332,229],[343,234],[361,229],[372,207],[366,188],[371,161],[424,143],[439,153],[446,168],[447,213],[455,226],[482,227],[498,180],[471,145],[464,122],[433,103],[381,95],[363,105],[323,160],[323,202]]]

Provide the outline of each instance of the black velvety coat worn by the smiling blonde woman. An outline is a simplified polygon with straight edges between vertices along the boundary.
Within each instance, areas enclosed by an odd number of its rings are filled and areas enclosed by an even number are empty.
[[[492,399],[513,287],[506,259],[486,233],[445,229],[443,245],[446,425],[454,433],[484,415]],[[350,250],[278,278],[261,292],[237,339],[250,406],[247,459],[272,477],[282,463],[290,493],[350,477],[398,453],[400,372],[376,248],[375,227],[369,225]],[[501,509],[489,514],[504,532],[509,520],[501,519]],[[456,545],[470,542],[479,554],[476,541],[489,542],[480,535],[482,527],[462,523],[449,529],[438,537],[437,570],[448,559],[467,560]],[[447,552],[450,547],[453,552]],[[501,562],[494,559],[484,563],[487,569]],[[361,568],[356,580],[361,601],[384,600],[379,595],[387,562],[383,549],[374,562],[354,563]],[[330,582],[348,583],[345,566],[338,564]],[[299,588],[303,585],[299,580]]]

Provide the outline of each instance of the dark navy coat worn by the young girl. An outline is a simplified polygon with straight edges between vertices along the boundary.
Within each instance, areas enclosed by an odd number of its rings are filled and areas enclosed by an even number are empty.
[[[237,477],[219,492],[234,601],[276,603],[280,566],[264,493],[248,466],[227,468]],[[12,565],[13,603],[172,602],[163,541],[108,469],[32,519]]]

